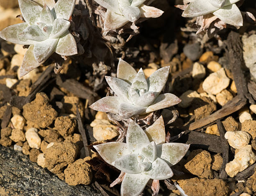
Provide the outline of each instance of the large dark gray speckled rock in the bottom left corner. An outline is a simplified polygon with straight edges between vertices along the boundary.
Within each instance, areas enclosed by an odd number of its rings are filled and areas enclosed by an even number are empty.
[[[69,186],[28,156],[0,145],[0,195],[102,196],[92,185]]]

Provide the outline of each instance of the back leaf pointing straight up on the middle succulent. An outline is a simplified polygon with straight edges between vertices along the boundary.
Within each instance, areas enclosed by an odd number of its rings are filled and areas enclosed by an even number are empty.
[[[137,72],[129,63],[119,58],[116,75],[117,78],[125,80],[125,82],[131,84],[136,77]]]

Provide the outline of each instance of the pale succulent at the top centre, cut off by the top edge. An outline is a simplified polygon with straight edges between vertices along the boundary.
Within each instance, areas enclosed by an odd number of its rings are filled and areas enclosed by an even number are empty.
[[[144,5],[146,0],[95,0],[107,9],[104,31],[122,27],[126,23],[136,22],[139,18],[157,18],[164,12]]]

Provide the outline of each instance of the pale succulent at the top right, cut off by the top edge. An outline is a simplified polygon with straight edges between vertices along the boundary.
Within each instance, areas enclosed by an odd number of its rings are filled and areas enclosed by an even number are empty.
[[[236,6],[239,0],[193,0],[182,13],[183,17],[197,17],[212,13],[223,22],[243,26],[243,17]]]

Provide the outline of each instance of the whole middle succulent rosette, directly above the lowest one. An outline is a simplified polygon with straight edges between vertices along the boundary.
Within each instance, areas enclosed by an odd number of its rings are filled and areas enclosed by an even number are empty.
[[[169,66],[156,70],[146,79],[142,68],[137,73],[130,64],[120,58],[117,78],[105,76],[117,96],[104,97],[93,103],[90,108],[116,114],[123,120],[174,106],[181,102],[181,99],[171,93],[160,94],[168,75]]]

